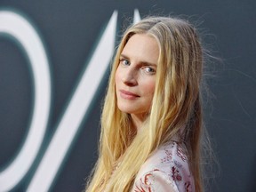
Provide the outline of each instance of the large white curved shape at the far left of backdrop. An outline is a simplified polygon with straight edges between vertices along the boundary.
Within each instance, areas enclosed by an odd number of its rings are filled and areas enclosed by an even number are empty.
[[[12,164],[0,172],[0,191],[9,191],[28,172],[42,144],[51,104],[51,77],[44,45],[28,20],[15,12],[1,11],[0,33],[8,34],[20,42],[28,54],[35,81],[35,105],[28,136]]]

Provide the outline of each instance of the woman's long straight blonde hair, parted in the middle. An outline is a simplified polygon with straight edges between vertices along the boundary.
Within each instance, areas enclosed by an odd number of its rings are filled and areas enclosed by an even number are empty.
[[[140,127],[142,132],[138,134],[132,130],[131,116],[117,108],[115,90],[120,54],[134,34],[154,36],[160,51],[152,107]],[[184,126],[183,141],[188,148],[196,191],[203,190],[200,171],[202,68],[200,40],[188,21],[149,17],[124,32],[116,51],[101,116],[99,159],[86,191],[131,190],[134,178],[148,156],[172,140]]]

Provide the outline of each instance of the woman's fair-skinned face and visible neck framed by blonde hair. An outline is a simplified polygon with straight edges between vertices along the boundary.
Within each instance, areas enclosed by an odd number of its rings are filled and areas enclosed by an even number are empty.
[[[131,114],[139,128],[148,116],[156,85],[159,47],[153,36],[133,35],[125,44],[116,69],[117,106]]]

